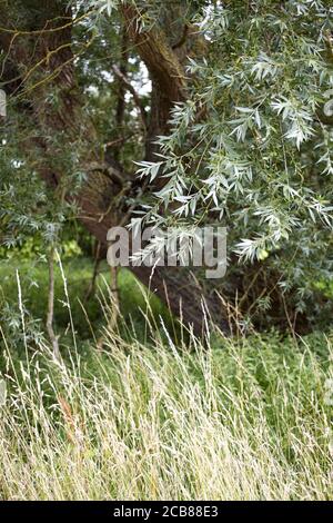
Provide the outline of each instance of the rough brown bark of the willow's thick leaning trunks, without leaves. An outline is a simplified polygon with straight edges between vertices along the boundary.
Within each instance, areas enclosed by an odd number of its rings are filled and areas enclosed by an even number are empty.
[[[26,91],[23,109],[39,129],[39,138],[30,144],[30,151],[33,148],[40,151],[43,160],[40,165],[41,176],[60,197],[74,198],[80,208],[82,224],[98,240],[105,244],[108,229],[119,225],[128,211],[110,206],[122,190],[125,175],[114,165],[101,162],[94,129],[83,119],[74,75],[68,2],[48,1],[43,2],[41,8],[37,0],[29,0],[24,9],[28,3],[31,9],[37,9],[38,16],[26,20],[22,32],[18,32],[11,23],[7,9],[0,11],[0,26],[8,29],[0,30],[0,45],[6,55],[1,80],[10,81],[7,83],[9,93]],[[182,2],[179,3],[181,6]],[[14,8],[20,9],[19,1],[11,2],[11,11]],[[139,13],[132,6],[123,4],[122,14],[128,37],[135,43],[137,51],[145,62],[152,79],[145,159],[153,159],[157,151],[153,140],[168,130],[173,103],[186,97],[183,68],[185,52],[183,45],[174,46],[173,49],[160,28],[140,31]],[[31,75],[31,70],[34,70],[36,75]],[[47,92],[50,87],[57,89],[57,107],[48,101]],[[68,193],[62,172],[54,161],[59,152],[57,145],[52,142],[54,135],[62,136],[67,142],[75,142],[80,136],[87,142],[81,164],[88,174],[88,180],[74,196]],[[29,155],[29,148],[27,154]],[[147,187],[147,190],[150,188]],[[181,307],[183,320],[191,324],[196,334],[200,334],[203,327],[203,299],[214,320],[223,329],[228,329],[219,298],[213,293],[211,296],[202,296],[191,275],[176,267],[157,267],[153,275],[147,267],[133,267],[132,270],[175,315],[180,315]]]

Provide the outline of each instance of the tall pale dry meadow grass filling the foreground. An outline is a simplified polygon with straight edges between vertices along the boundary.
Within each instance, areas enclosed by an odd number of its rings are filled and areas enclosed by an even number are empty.
[[[145,296],[144,336],[121,315],[102,349],[74,328],[57,359],[21,295],[0,329],[1,500],[333,499],[333,336],[202,342]]]

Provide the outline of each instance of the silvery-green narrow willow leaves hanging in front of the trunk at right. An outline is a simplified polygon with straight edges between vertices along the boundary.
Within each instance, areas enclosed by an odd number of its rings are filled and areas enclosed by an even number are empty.
[[[140,169],[168,177],[150,221],[226,226],[230,270],[233,254],[265,260],[300,312],[332,277],[332,23],[321,1],[208,6],[209,53],[191,60],[161,161]]]

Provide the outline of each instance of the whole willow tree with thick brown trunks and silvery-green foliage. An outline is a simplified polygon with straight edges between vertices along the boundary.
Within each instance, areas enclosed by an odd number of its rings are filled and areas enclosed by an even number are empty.
[[[188,230],[222,223],[223,282],[134,273],[196,329],[202,295],[223,326],[228,302],[244,323],[315,312],[314,280],[332,275],[326,2],[2,1],[0,26],[8,229],[75,214],[105,243],[138,209]]]

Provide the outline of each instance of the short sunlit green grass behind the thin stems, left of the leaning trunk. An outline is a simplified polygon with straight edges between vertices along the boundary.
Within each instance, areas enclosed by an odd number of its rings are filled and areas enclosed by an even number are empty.
[[[67,277],[68,294],[70,298],[70,307],[77,336],[80,341],[91,339],[91,325],[98,335],[103,328],[104,314],[101,306],[101,297],[108,294],[109,267],[107,262],[101,263],[100,273],[97,277],[95,293],[85,300],[85,295],[91,282],[93,262],[89,258],[78,257],[63,262],[63,268]],[[32,319],[33,329],[36,330],[36,320],[41,324],[46,320],[48,306],[48,265],[46,260],[26,260],[17,256],[16,259],[1,260],[0,258],[0,320],[1,313],[4,316],[7,329],[12,327],[14,332],[20,323],[18,313],[18,287],[16,270],[20,273],[22,287],[23,307],[27,312],[27,326]],[[138,280],[127,269],[119,272],[118,285],[120,292],[121,312],[124,318],[121,327],[131,324],[131,329],[135,330],[135,336],[144,338],[145,333],[145,313],[147,298],[144,293],[139,288]],[[64,333],[70,330],[69,308],[67,297],[63,289],[63,280],[58,264],[54,267],[54,329],[63,337]],[[103,298],[102,298],[103,299]],[[170,325],[170,314],[167,307],[152,294],[149,298],[150,310],[154,317],[163,316],[167,324]],[[12,336],[14,333],[10,333]],[[123,336],[128,334],[128,329],[123,328]],[[69,337],[71,333],[69,332]]]

